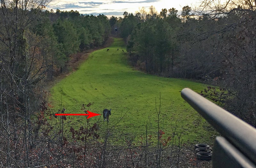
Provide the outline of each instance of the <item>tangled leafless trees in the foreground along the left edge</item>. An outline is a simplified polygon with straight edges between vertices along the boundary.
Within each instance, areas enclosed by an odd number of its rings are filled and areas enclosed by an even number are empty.
[[[7,167],[16,167],[21,160],[24,167],[30,167],[29,150],[36,145],[31,115],[40,111],[42,94],[36,85],[44,77],[47,65],[36,44],[38,39],[28,26],[47,3],[1,0],[0,123],[6,149],[1,155],[6,158],[2,164]],[[20,143],[22,147],[17,145]]]

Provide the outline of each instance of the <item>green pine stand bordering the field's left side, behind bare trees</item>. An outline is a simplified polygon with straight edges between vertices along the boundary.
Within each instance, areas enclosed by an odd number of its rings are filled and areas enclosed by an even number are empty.
[[[110,33],[109,20],[105,15],[82,15],[78,11],[44,11],[30,31],[42,40],[44,47],[48,46],[48,54],[52,55],[48,73],[61,73],[72,54],[101,46]]]

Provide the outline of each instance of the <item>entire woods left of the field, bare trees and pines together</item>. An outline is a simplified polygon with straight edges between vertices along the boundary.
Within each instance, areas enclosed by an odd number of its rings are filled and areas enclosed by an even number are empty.
[[[101,46],[110,32],[104,15],[47,11],[46,3],[1,0],[0,167],[47,167],[60,162],[49,157],[50,143],[59,145],[57,155],[63,154],[63,139],[50,134],[60,129],[44,117],[48,107],[44,86],[66,71],[72,54]]]

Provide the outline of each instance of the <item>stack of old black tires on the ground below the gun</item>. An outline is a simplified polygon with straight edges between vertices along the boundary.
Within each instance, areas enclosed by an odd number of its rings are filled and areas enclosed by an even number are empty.
[[[195,145],[196,159],[199,160],[211,160],[212,159],[212,147],[207,144],[199,143]]]

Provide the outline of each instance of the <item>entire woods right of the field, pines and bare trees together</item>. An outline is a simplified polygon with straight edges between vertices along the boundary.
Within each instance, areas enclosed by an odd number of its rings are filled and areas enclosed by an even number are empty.
[[[202,94],[256,126],[256,8],[235,2],[205,1],[195,13],[185,6],[180,16],[151,6],[148,13],[125,12],[118,25],[133,66],[219,86]]]

